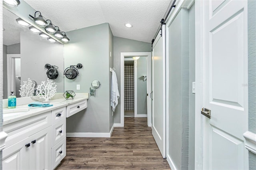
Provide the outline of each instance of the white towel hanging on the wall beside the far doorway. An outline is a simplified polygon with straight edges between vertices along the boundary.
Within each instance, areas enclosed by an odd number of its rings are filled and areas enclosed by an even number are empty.
[[[111,106],[112,106],[112,111],[113,112],[116,109],[119,97],[120,97],[120,94],[119,94],[119,91],[118,91],[118,83],[117,83],[117,78],[116,78],[116,72],[112,71]]]

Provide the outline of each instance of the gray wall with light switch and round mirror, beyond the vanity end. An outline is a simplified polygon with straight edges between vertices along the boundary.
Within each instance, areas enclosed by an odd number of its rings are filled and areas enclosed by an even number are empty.
[[[87,109],[66,119],[67,132],[110,131],[110,59],[111,35],[108,23],[67,32],[70,42],[64,45],[65,68],[82,63],[76,79],[65,81],[65,90],[89,93],[93,80],[100,81],[96,96],[89,97]],[[110,45],[109,45],[110,43]],[[76,85],[80,84],[80,90]]]

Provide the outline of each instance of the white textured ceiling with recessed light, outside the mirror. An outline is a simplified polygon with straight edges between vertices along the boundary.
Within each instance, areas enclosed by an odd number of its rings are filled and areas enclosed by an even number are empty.
[[[154,38],[170,4],[170,0],[25,1],[64,32],[107,22],[114,36],[142,42]],[[133,27],[126,28],[126,23]]]

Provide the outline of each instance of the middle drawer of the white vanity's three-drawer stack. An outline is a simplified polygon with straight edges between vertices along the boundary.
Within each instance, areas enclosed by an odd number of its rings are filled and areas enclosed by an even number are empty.
[[[52,146],[66,137],[66,119],[52,125]]]

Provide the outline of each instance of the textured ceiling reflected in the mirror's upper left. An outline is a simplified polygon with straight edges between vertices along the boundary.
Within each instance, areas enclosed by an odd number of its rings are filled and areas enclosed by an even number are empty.
[[[22,28],[16,22],[17,18],[15,14],[3,8],[4,45],[20,43],[20,29]]]

